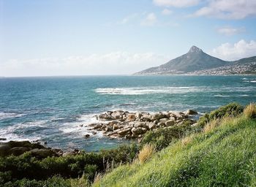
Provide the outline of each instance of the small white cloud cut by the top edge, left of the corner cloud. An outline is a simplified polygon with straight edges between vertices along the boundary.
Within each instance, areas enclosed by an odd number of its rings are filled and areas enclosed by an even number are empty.
[[[197,5],[200,0],[153,0],[160,7],[191,7]]]

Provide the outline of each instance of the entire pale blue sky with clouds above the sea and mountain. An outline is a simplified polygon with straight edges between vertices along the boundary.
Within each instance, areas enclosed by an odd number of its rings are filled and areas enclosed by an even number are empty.
[[[0,77],[129,75],[192,45],[256,56],[256,1],[0,0]]]

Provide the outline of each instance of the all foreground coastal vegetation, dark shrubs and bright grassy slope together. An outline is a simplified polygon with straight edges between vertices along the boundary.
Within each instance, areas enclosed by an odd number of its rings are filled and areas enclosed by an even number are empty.
[[[99,153],[0,157],[0,186],[256,186],[255,111],[227,104]]]

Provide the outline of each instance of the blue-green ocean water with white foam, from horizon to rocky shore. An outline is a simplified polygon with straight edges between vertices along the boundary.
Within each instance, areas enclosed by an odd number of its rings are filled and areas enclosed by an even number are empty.
[[[97,151],[127,140],[81,124],[108,110],[208,112],[230,102],[256,102],[255,76],[86,76],[0,79],[0,138],[47,141],[62,149]]]

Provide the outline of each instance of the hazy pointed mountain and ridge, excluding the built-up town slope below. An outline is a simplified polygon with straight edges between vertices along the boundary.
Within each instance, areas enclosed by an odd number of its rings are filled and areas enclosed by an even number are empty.
[[[252,62],[256,62],[256,56],[251,58],[242,58],[239,61],[223,61],[219,58],[204,53],[203,50],[196,46],[192,46],[189,52],[183,56],[174,58],[173,60],[168,61],[166,64],[137,72],[135,75],[193,74],[193,72],[200,72],[206,69],[214,69],[216,71],[216,69],[221,69],[224,66],[227,67],[233,65],[248,64]]]

